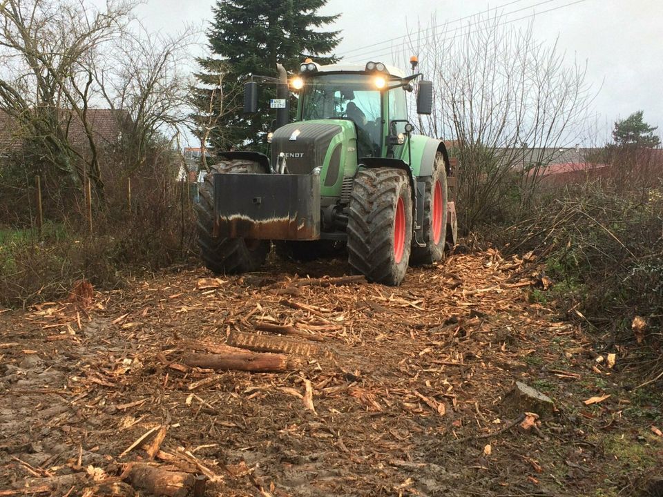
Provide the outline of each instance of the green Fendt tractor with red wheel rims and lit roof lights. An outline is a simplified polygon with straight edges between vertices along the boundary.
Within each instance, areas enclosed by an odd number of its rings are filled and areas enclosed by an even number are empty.
[[[198,243],[214,273],[255,271],[271,243],[295,259],[347,246],[369,281],[398,285],[409,265],[431,264],[456,242],[447,150],[414,135],[407,116],[412,75],[385,64],[320,66],[307,59],[290,81],[278,66],[270,155],[220,153],[200,185]],[[289,123],[290,91],[298,93]],[[419,81],[417,113],[432,111],[431,81]],[[258,84],[245,86],[254,113]]]

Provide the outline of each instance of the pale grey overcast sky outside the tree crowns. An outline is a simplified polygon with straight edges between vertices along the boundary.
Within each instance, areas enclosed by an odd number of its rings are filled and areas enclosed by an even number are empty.
[[[148,0],[137,15],[148,30],[175,32],[187,23],[209,22],[214,3]],[[662,0],[329,0],[322,12],[340,13],[331,27],[342,32],[338,55],[346,55],[348,61],[368,61],[370,55],[380,55],[389,64],[394,42],[381,42],[406,35],[418,23],[429,23],[432,16],[436,23],[448,21],[457,26],[457,19],[488,8],[498,8],[506,21],[528,18],[511,26],[524,26],[536,12],[537,39],[546,43],[559,39],[559,47],[570,61],[575,57],[587,62],[588,82],[596,90],[600,88],[594,104],[603,126],[599,144],[608,139],[606,127],[635,110],[644,110],[645,121],[663,128]],[[201,41],[204,43],[204,37]],[[374,43],[381,44],[365,48]],[[361,48],[365,49],[358,50]]]

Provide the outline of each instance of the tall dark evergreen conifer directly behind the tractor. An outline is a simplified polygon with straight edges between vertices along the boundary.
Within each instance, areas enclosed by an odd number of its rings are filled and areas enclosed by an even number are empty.
[[[195,90],[194,101],[199,112],[198,126],[211,121],[211,114],[218,116],[209,133],[213,148],[263,148],[264,135],[274,118],[267,101],[276,95],[276,86],[261,83],[259,112],[244,116],[241,92],[249,75],[276,77],[277,62],[296,72],[306,57],[320,64],[336,61],[329,54],[340,41],[339,32],[318,30],[338,18],[318,14],[326,3],[327,0],[217,0],[207,33],[212,57],[198,61],[202,71],[196,78],[204,86]],[[202,128],[198,131],[202,136]]]

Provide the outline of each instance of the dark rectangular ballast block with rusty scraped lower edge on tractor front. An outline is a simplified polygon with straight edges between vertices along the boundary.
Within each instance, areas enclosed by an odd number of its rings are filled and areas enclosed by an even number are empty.
[[[320,175],[216,174],[218,237],[319,240]]]

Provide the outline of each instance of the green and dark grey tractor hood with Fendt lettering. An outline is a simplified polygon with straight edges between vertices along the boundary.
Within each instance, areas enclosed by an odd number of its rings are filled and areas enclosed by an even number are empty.
[[[347,132],[352,135],[348,136]],[[291,174],[310,174],[316,167],[338,172],[341,148],[348,138],[355,138],[354,124],[350,121],[327,119],[287,124],[274,131],[271,138],[272,164],[284,153]]]

